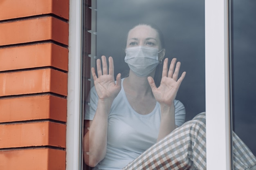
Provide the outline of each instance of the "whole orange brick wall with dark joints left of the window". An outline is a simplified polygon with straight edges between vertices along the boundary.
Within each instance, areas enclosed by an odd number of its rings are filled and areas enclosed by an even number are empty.
[[[65,170],[69,0],[0,2],[0,170]]]

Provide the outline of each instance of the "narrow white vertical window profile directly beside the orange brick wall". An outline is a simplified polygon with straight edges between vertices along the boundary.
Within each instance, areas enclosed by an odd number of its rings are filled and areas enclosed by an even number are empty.
[[[66,170],[81,169],[82,0],[70,0]]]

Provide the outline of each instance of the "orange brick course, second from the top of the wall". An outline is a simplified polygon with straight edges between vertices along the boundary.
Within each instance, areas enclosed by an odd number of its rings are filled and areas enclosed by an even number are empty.
[[[53,17],[4,22],[0,30],[0,46],[43,40],[68,45],[68,24]]]

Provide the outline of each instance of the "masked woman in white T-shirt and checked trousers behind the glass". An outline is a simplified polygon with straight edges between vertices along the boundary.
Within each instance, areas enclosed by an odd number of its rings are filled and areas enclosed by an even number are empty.
[[[161,35],[147,24],[129,31],[125,62],[130,72],[124,79],[119,73],[115,82],[112,57],[109,70],[105,56],[102,70],[97,60],[98,77],[92,68],[95,86],[86,109],[83,152],[94,169],[206,168],[204,114],[177,128],[185,119],[184,106],[175,100],[186,74],[178,78],[180,62],[173,59],[168,69],[166,58],[155,85],[156,66],[165,55]]]

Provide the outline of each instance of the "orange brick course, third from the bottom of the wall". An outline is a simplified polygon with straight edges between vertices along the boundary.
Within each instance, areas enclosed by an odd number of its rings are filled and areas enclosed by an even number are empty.
[[[0,99],[0,123],[53,119],[67,121],[67,99],[52,95]]]

